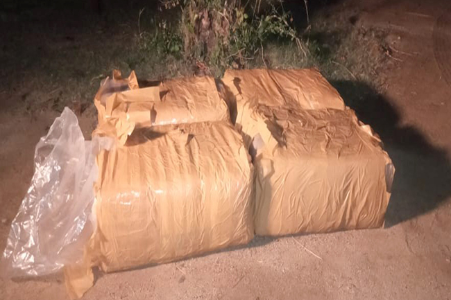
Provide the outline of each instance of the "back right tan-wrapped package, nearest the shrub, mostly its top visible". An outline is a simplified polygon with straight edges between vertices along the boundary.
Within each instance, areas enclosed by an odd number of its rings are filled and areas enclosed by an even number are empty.
[[[317,69],[227,70],[222,96],[230,106],[232,122],[244,132],[249,147],[264,127],[259,105],[292,109],[344,109],[343,99]]]

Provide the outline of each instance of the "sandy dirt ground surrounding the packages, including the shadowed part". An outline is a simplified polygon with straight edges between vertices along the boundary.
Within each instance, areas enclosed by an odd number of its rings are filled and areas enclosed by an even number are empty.
[[[386,228],[312,234],[141,270],[99,275],[83,299],[450,299],[451,5],[345,1],[359,26],[389,31],[395,61],[382,94],[334,82],[380,133],[396,167]],[[449,7],[449,8],[447,8]],[[6,94],[0,98],[7,103]],[[352,106],[352,103],[350,104]],[[33,173],[33,150],[56,112],[0,112],[0,249]],[[80,119],[86,136],[92,118]],[[0,299],[67,299],[62,281],[4,281]]]

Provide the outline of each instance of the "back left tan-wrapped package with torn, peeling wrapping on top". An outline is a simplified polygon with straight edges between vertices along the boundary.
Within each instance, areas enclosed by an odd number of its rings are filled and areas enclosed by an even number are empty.
[[[135,127],[230,120],[214,78],[178,78],[155,87],[133,85],[111,92],[110,85],[116,86],[117,81],[107,80],[96,94],[99,127],[95,134],[116,136],[121,144]],[[137,82],[135,73],[120,82]]]

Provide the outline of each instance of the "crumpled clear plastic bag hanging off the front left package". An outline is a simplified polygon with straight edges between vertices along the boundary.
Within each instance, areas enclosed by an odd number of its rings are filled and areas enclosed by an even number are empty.
[[[42,276],[83,257],[95,224],[92,213],[96,155],[110,138],[85,141],[74,112],[65,108],[35,148],[31,186],[12,221],[3,274]]]

